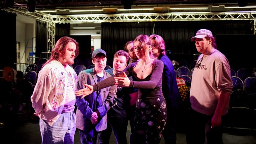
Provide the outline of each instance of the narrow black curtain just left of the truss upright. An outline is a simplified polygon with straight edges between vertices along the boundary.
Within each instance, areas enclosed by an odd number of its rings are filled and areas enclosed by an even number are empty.
[[[37,21],[35,29],[35,56],[41,58],[41,53],[48,51],[46,23]]]

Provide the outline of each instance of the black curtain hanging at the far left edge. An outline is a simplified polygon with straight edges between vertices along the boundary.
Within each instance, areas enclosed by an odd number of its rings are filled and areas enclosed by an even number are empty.
[[[0,69],[9,66],[16,69],[14,63],[17,62],[16,57],[16,14],[11,12],[0,10],[0,30],[2,37],[0,39],[1,43],[1,53],[0,57]],[[5,55],[5,56],[4,56]]]

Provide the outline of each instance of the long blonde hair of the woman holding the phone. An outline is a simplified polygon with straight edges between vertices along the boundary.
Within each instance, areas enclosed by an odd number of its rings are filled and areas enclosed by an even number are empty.
[[[143,52],[143,57],[141,58],[146,62],[146,64],[151,64],[154,60],[152,51],[149,49],[149,46],[151,46],[151,41],[148,35],[139,35],[134,39],[134,43],[136,41],[139,41],[141,46],[142,46],[142,52]]]

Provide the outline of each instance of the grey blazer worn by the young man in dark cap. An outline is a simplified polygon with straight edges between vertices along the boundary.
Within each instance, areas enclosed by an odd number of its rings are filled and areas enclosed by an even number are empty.
[[[109,73],[105,72],[103,79],[111,76]],[[95,69],[86,69],[81,71],[77,79],[77,90],[84,88],[83,83],[94,85],[98,83],[97,75]],[[76,128],[90,131],[95,129],[99,132],[107,128],[107,112],[109,107],[113,103],[113,90],[110,87],[103,88],[99,90],[99,95],[97,91],[92,92],[90,95],[85,96],[83,99],[81,96],[76,96]],[[99,111],[100,116],[98,117],[99,122],[95,125],[91,123],[91,114],[96,110]]]

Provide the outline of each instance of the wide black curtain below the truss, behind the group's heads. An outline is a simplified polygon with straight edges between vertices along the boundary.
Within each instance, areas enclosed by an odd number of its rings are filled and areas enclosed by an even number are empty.
[[[171,50],[172,54],[195,54],[195,44],[190,39],[199,29],[211,30],[214,37],[218,34],[253,34],[250,22],[251,20],[102,23],[101,48],[107,53],[114,53],[140,34],[153,34],[154,28],[154,34],[163,37],[166,50]]]

